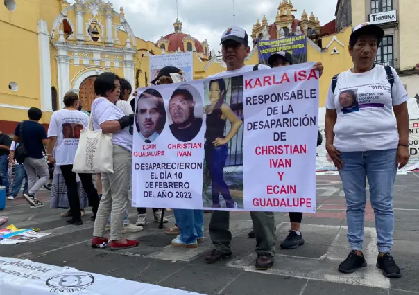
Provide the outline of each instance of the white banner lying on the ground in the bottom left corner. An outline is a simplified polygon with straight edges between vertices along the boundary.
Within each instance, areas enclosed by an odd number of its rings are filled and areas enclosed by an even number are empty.
[[[198,293],[78,271],[71,267],[56,267],[31,260],[8,257],[0,257],[0,278],[0,294],[5,295],[46,295],[52,293],[198,295]]]

